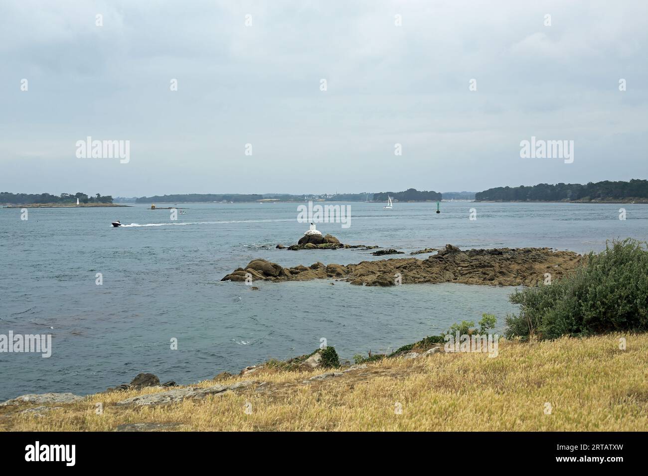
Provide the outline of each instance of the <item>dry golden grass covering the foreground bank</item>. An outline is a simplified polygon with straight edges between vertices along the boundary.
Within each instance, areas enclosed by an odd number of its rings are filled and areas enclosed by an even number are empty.
[[[619,337],[627,350],[619,349]],[[334,378],[302,383],[318,372],[266,370],[240,392],[172,405],[127,408],[137,394],[89,396],[45,416],[0,408],[0,429],[111,431],[122,424],[177,423],[185,431],[646,431],[648,334],[517,343],[500,354],[445,354],[386,359]],[[194,386],[209,387],[213,381]],[[95,403],[104,413],[95,413]],[[251,414],[246,414],[246,403]],[[402,414],[395,413],[396,403]],[[546,403],[551,414],[545,414]]]

